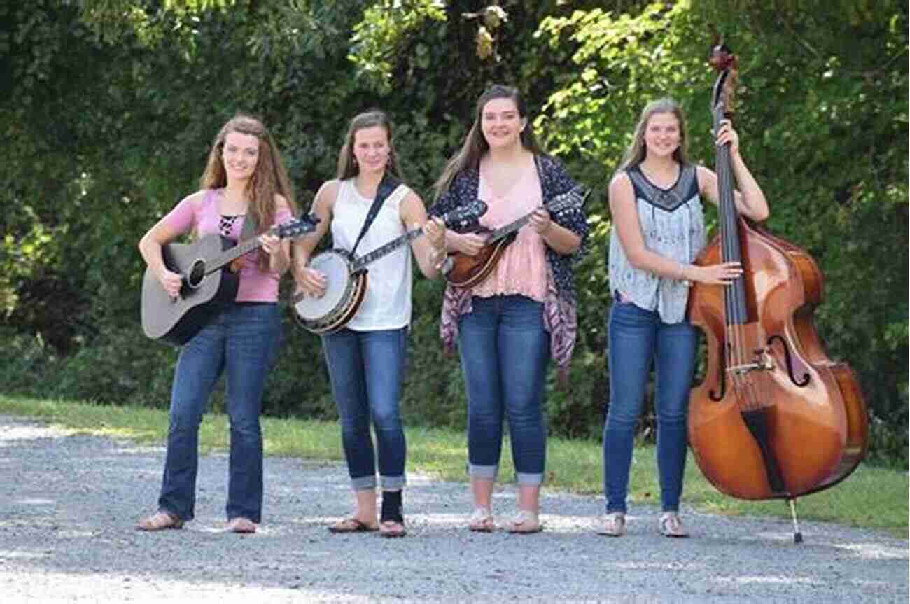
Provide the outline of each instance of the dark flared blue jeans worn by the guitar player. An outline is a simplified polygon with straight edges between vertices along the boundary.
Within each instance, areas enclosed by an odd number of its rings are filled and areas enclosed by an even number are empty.
[[[158,508],[184,520],[196,505],[199,424],[222,372],[227,379],[230,461],[227,518],[262,519],[259,413],[276,357],[278,305],[229,305],[180,350],[171,391],[167,458]]]

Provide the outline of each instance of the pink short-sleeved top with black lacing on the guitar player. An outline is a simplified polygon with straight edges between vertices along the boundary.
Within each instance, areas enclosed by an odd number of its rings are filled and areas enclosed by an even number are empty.
[[[221,216],[218,214],[218,199],[224,195],[224,189],[208,189],[201,200],[193,196],[184,197],[177,206],[165,216],[167,227],[179,233],[193,231],[195,237],[204,237],[220,233],[232,241],[240,238],[246,216],[238,216],[230,230],[221,233]],[[287,207],[275,213],[275,225],[290,220],[293,216]],[[259,267],[259,255],[264,254],[261,248],[255,249],[240,258],[240,287],[237,302],[276,302],[278,301],[278,273],[263,270]]]

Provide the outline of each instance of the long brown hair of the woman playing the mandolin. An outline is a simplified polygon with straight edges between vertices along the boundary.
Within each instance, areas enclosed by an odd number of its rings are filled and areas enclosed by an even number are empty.
[[[440,195],[449,189],[455,176],[458,176],[465,170],[479,167],[480,157],[490,150],[490,144],[483,136],[480,121],[483,117],[483,107],[497,98],[510,98],[512,102],[515,103],[519,116],[526,119],[524,129],[521,131],[521,146],[531,151],[534,155],[541,155],[541,147],[537,144],[537,138],[534,136],[531,120],[527,119],[528,108],[525,106],[518,88],[494,84],[487,88],[483,94],[480,95],[480,98],[477,99],[477,107],[474,112],[474,123],[470,126],[468,136],[465,138],[460,151],[452,156],[448,163],[446,163],[445,169],[442,170],[442,176],[440,176],[440,179],[437,180],[434,185],[434,188],[436,189],[436,199],[439,199]]]

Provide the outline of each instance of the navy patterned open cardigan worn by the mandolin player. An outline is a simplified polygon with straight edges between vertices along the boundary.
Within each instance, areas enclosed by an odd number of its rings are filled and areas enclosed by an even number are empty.
[[[561,162],[551,156],[535,156],[538,176],[541,181],[543,203],[550,201],[574,188],[576,183],[566,172]],[[442,216],[459,206],[477,199],[480,190],[480,170],[473,168],[461,172],[452,180],[449,190],[443,193],[433,206],[430,216]],[[551,357],[560,371],[560,377],[568,377],[571,351],[575,346],[578,332],[575,307],[575,286],[572,282],[572,265],[584,254],[588,237],[588,221],[583,207],[570,207],[551,214],[559,226],[566,227],[581,237],[581,246],[572,254],[562,255],[547,247],[548,296],[544,303],[544,326],[550,332]],[[452,349],[458,339],[458,317],[470,312],[470,288],[446,287],[442,303],[440,336],[446,347]]]

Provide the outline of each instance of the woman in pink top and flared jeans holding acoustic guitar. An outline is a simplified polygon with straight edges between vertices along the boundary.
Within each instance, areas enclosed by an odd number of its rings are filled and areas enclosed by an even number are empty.
[[[278,147],[257,119],[236,116],[208,154],[202,189],[185,197],[139,241],[139,251],[170,297],[181,276],[165,266],[162,247],[192,231],[237,240],[246,223],[261,251],[239,258],[237,298],[180,350],[171,393],[167,458],[158,511],[138,528],[181,528],[194,516],[198,430],[217,378],[227,374],[230,476],[227,528],[255,532],[262,516],[262,392],[279,338],[278,280],[290,266],[290,244],[265,234],[293,215],[293,192]]]

